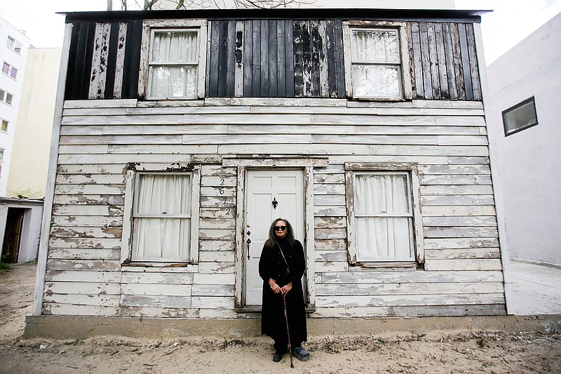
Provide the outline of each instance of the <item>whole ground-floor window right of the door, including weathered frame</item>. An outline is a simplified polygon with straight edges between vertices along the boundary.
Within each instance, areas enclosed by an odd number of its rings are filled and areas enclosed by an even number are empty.
[[[424,262],[415,166],[368,167],[346,165],[353,196],[348,215],[351,263]]]

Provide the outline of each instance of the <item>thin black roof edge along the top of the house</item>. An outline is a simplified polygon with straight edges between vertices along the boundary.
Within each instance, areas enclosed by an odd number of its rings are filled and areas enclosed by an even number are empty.
[[[333,8],[276,8],[276,9],[194,9],[168,11],[96,11],[58,12],[66,15],[66,23],[117,22],[149,19],[207,18],[231,19],[321,19],[321,20],[458,20],[481,22],[480,15],[490,11],[442,9],[333,9]]]

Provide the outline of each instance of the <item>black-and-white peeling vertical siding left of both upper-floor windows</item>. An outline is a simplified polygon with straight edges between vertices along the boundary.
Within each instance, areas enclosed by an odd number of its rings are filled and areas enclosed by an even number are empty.
[[[123,38],[119,38],[119,24],[125,30]],[[96,29],[106,27],[108,34],[102,45],[96,43]],[[121,40],[120,40],[121,39]],[[138,76],[140,70],[140,42],[142,40],[142,20],[128,22],[76,22],[72,28],[70,39],[65,99],[128,99],[137,98]],[[104,48],[104,51],[100,51]],[[124,51],[121,49],[124,48]],[[103,58],[94,58],[98,53]],[[117,55],[124,53],[118,64]],[[97,64],[94,66],[93,62]],[[102,76],[103,88],[90,87],[94,77]],[[97,82],[97,79],[95,80]],[[115,82],[121,82],[115,87]],[[95,97],[90,92],[95,93]]]

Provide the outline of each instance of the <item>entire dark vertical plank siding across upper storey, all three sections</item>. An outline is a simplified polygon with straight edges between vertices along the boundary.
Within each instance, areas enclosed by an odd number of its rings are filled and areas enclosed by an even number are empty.
[[[345,98],[341,20],[209,25],[206,97]],[[141,41],[142,20],[74,23],[65,99],[137,98]],[[482,99],[473,24],[407,22],[407,44],[413,98]]]

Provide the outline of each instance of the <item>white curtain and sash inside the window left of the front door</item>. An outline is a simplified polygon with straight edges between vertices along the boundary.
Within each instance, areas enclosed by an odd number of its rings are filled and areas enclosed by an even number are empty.
[[[191,175],[140,175],[133,258],[188,259],[190,217]]]

